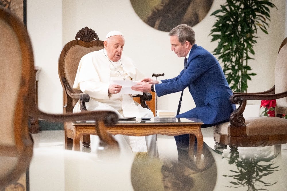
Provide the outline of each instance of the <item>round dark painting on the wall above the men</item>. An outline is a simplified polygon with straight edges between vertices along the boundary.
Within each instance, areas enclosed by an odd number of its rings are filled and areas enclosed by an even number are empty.
[[[179,24],[191,27],[208,13],[213,0],[130,0],[137,15],[160,31],[170,31]]]

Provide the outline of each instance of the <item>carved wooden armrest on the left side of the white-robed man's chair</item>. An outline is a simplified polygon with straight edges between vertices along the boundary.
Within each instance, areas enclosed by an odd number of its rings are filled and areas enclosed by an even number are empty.
[[[80,100],[80,109],[81,111],[87,111],[86,108],[86,102],[90,101],[90,96],[87,93],[74,93],[73,89],[70,87],[70,85],[68,84],[68,82],[63,79],[63,83],[66,89],[67,94],[69,95],[69,97],[73,98],[73,99],[79,99]]]

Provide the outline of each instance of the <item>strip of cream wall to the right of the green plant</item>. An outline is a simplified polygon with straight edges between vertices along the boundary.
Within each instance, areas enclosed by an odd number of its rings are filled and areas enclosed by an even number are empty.
[[[273,0],[272,3],[278,8],[270,9],[271,22],[267,29],[268,35],[258,30],[257,45],[254,48],[255,60],[248,61],[253,68],[252,72],[257,73],[248,82],[248,92],[259,92],[268,90],[275,82],[275,62],[279,46],[285,36],[285,1]],[[259,103],[260,101],[250,101]]]

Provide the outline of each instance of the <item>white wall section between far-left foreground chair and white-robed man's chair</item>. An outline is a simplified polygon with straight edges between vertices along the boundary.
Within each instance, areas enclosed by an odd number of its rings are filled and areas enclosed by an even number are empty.
[[[35,66],[40,66],[38,107],[63,113],[63,88],[58,75],[62,49],[62,2],[27,1],[27,28],[32,41]]]

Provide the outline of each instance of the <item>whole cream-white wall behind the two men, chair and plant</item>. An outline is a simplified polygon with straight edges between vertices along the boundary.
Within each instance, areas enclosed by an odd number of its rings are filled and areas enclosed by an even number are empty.
[[[215,22],[215,18],[209,15],[224,2],[214,1],[205,19],[193,27],[196,43],[210,52],[217,43],[211,43],[211,37],[208,36]],[[248,92],[267,90],[274,84],[276,55],[285,35],[285,2],[272,2],[278,10],[271,9],[269,35],[259,31],[260,38],[254,48],[255,61],[249,62],[257,76],[249,81]],[[35,3],[28,1],[27,6],[28,31],[34,46],[35,65],[42,67],[38,100],[40,109],[44,111],[62,111],[62,87],[57,74],[59,53],[61,47],[73,40],[77,31],[85,26],[96,31],[100,40],[104,40],[111,30],[121,31],[126,40],[124,54],[131,57],[135,65],[149,77],[153,73],[165,73],[164,78],[172,78],[183,68],[183,58],[178,58],[170,51],[168,32],[158,31],[144,23],[133,10],[130,0],[42,0]],[[159,97],[158,109],[176,111],[179,97],[180,92]],[[181,112],[193,107],[195,105],[186,89]]]

